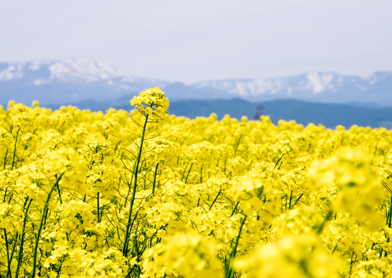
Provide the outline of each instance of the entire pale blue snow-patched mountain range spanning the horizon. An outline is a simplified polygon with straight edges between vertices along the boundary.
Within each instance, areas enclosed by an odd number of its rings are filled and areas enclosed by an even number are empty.
[[[243,99],[265,102],[297,99],[354,106],[392,106],[392,71],[370,77],[309,72],[292,77],[207,80],[182,84],[131,75],[102,62],[79,59],[0,63],[0,104],[42,105],[107,102],[121,105],[139,91],[159,86],[170,101]],[[371,104],[368,104],[371,103]]]

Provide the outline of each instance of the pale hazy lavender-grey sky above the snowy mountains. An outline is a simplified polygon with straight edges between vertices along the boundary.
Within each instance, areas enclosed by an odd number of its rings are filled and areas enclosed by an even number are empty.
[[[390,0],[0,0],[0,61],[79,58],[186,83],[392,70]]]

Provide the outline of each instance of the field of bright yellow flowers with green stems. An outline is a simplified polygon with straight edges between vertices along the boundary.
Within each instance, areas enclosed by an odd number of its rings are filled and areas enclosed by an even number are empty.
[[[131,105],[0,109],[2,278],[392,276],[391,131]]]

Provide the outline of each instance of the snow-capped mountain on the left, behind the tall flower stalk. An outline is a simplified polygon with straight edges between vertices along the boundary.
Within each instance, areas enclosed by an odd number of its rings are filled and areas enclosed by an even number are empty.
[[[0,104],[11,99],[25,104],[110,101],[168,83],[129,75],[108,63],[78,59],[0,63]]]

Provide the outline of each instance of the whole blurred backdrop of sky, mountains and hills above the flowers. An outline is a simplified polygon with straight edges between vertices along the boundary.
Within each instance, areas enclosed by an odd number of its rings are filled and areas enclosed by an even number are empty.
[[[381,0],[0,0],[0,104],[392,128],[392,11]]]

